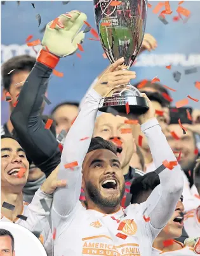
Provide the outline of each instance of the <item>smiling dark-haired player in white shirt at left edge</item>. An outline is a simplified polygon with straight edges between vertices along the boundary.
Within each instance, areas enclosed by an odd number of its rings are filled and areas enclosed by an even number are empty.
[[[18,176],[20,168],[24,172],[22,171],[22,174]],[[50,184],[53,175],[56,177],[56,174],[53,173],[44,181],[44,191],[47,190],[46,184]],[[53,239],[47,220],[49,214],[44,211],[40,203],[38,204],[39,200],[43,199],[46,195],[40,190],[36,192],[31,204],[23,201],[22,190],[27,182],[28,176],[29,162],[22,147],[15,139],[8,136],[1,136],[1,221],[15,222],[15,224],[26,227],[29,231],[39,232],[39,239],[48,255],[51,256],[53,254]],[[65,184],[66,182],[62,184],[58,181],[53,185],[57,187]],[[7,208],[3,207],[3,203],[15,206],[14,210],[11,210],[9,206]],[[51,203],[52,197],[46,198],[46,204],[49,208],[51,207]],[[37,204],[37,213],[35,211],[35,204]],[[27,220],[18,218],[18,215],[27,217]],[[43,224],[43,227],[41,227],[41,224]]]

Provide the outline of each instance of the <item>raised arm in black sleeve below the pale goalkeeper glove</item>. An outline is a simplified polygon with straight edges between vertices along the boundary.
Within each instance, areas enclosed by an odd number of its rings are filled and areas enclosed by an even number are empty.
[[[53,67],[39,62],[41,55],[22,87],[18,104],[11,113],[11,122],[17,132],[20,145],[30,159],[48,176],[60,163],[57,139],[44,128],[41,118],[43,95]],[[48,65],[48,64],[47,64]]]

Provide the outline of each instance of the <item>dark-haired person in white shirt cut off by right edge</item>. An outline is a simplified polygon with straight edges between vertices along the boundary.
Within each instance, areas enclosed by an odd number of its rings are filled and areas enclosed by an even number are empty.
[[[197,159],[197,164],[194,169],[194,183],[197,187],[197,192],[200,192],[199,185],[200,177],[200,159]],[[185,230],[189,236],[200,236],[200,197],[199,193],[194,195],[196,196],[196,201],[199,202],[197,208],[194,208],[190,211],[187,211],[185,214]],[[200,250],[200,249],[199,249]]]

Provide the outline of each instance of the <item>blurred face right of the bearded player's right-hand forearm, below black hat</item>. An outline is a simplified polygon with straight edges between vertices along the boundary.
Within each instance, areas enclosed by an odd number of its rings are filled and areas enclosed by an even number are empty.
[[[184,127],[184,124],[182,125]],[[175,132],[180,139],[173,138],[171,132]],[[179,162],[182,169],[184,171],[192,169],[197,158],[197,155],[194,154],[194,150],[196,149],[194,134],[189,130],[187,130],[186,134],[183,134],[179,124],[170,124],[165,131],[165,135],[176,157],[178,157],[178,152],[182,152]]]

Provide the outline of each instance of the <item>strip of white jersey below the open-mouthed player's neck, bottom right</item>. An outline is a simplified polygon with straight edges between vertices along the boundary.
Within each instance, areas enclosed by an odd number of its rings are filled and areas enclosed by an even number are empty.
[[[174,240],[175,241],[175,240]],[[152,248],[152,255],[151,256],[157,256],[157,255],[162,255],[162,256],[192,256],[192,255],[196,255],[196,253],[194,253],[193,248],[189,247],[189,246],[184,246],[182,243],[175,241],[175,243],[179,243],[182,248],[180,248],[179,250],[173,250],[173,251],[169,251],[169,252],[162,252],[160,250],[157,250],[156,248]]]

